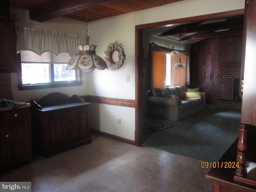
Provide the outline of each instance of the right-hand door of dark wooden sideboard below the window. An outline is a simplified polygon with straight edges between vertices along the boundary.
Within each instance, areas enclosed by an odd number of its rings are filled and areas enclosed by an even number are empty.
[[[89,107],[77,110],[77,133],[78,138],[86,138],[90,136],[89,129]]]

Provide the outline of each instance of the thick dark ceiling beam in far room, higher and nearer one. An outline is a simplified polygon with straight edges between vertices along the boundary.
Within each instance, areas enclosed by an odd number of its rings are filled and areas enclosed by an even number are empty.
[[[223,22],[215,22],[210,24],[190,24],[190,25],[182,25],[177,28],[170,29],[159,36],[169,36],[169,35],[180,35],[185,33],[207,33],[214,32],[220,29],[228,29],[228,28],[242,28],[243,27],[243,17],[240,18],[232,18]]]

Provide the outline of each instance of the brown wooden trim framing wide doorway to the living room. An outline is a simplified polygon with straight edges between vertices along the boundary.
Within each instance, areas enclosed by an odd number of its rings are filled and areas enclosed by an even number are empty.
[[[188,24],[192,22],[200,22],[202,20],[212,20],[227,18],[232,16],[243,15],[244,9],[221,12],[216,14],[207,14],[202,16],[194,16],[189,18],[181,18],[164,22],[156,22],[150,24],[142,24],[135,26],[135,145],[140,146],[143,143],[143,103],[144,103],[144,86],[143,86],[143,31],[150,28],[162,28],[164,26],[175,26]]]

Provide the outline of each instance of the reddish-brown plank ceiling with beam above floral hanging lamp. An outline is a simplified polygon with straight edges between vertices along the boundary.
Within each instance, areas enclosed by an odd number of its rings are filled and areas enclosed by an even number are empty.
[[[88,22],[182,0],[86,0]],[[10,6],[30,10],[39,22],[63,16],[85,21],[85,0],[10,0]]]

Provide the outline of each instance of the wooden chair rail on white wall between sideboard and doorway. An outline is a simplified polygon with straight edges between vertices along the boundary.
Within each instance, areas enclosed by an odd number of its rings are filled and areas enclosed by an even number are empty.
[[[94,96],[94,95],[81,96],[81,98],[86,100],[86,102],[95,102],[95,103],[135,108],[135,100],[132,100],[132,99],[110,98],[110,97],[102,97],[102,96]]]

